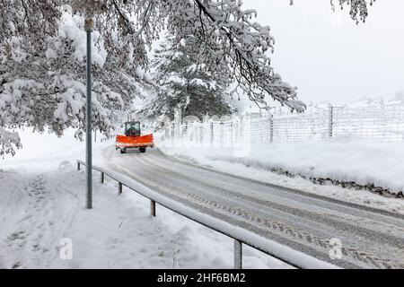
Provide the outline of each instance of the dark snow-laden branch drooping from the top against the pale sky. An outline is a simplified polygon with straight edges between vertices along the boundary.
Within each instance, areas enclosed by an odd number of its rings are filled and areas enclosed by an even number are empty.
[[[267,106],[265,98],[269,95],[293,109],[304,109],[303,103],[295,100],[295,88],[282,81],[271,67],[267,52],[273,51],[275,40],[268,27],[250,21],[255,11],[242,11],[236,1],[195,0],[195,4],[201,14],[193,26],[198,27],[200,22],[204,28],[193,33],[205,39],[206,50],[215,55],[215,61],[227,62],[250,100]]]

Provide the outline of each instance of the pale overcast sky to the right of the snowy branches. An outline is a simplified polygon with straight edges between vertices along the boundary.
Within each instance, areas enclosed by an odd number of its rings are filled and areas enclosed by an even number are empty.
[[[337,2],[337,0],[335,0]],[[273,66],[307,103],[391,99],[404,90],[404,1],[378,0],[365,23],[329,0],[244,0],[276,39]]]

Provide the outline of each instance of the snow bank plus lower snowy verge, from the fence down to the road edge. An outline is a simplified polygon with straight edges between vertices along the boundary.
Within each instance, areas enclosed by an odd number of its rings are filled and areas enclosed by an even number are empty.
[[[231,148],[197,147],[186,142],[172,146],[160,141],[159,147],[168,155],[215,170],[404,214],[404,200],[400,198],[386,198],[364,190],[331,185],[320,186],[298,176],[291,178],[270,171],[281,169],[306,178],[333,178],[355,181],[360,185],[373,183],[398,193],[404,189],[403,143],[349,138],[271,143],[251,146],[246,157],[234,156]]]

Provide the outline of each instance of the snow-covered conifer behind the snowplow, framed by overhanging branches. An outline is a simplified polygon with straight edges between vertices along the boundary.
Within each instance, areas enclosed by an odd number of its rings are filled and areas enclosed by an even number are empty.
[[[219,63],[209,71],[205,64],[196,61],[200,53],[198,40],[193,36],[167,37],[156,50],[152,65],[160,92],[139,114],[150,119],[173,118],[175,109],[181,109],[183,117],[199,119],[230,114],[231,107],[224,101],[230,83],[224,76],[226,66]]]

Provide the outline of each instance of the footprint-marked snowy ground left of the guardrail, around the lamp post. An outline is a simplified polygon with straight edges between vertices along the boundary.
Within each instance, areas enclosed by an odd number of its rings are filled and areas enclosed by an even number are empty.
[[[233,240],[94,173],[94,208],[84,208],[83,143],[20,131],[24,148],[0,163],[0,268],[232,268]],[[94,160],[109,143],[96,143]],[[73,259],[62,260],[63,239]],[[244,248],[247,268],[287,265]]]

